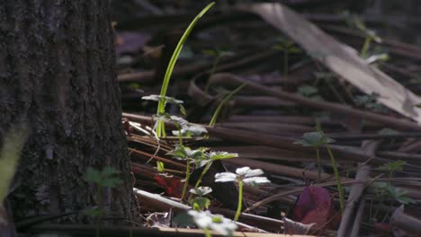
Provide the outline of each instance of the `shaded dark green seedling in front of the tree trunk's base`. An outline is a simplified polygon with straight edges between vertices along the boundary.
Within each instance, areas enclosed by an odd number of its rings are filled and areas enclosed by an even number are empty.
[[[94,183],[96,186],[96,203],[98,208],[92,208],[85,211],[85,215],[90,215],[96,219],[96,237],[100,236],[101,218],[105,212],[103,209],[103,188],[115,188],[122,183],[122,180],[116,175],[120,171],[116,171],[113,167],[104,167],[103,171],[97,171],[92,167],[86,169],[85,180]]]

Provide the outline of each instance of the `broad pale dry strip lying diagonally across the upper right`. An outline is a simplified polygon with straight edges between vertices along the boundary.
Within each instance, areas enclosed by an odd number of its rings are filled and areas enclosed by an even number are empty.
[[[282,4],[240,5],[239,9],[260,15],[264,21],[285,32],[336,75],[361,91],[380,95],[378,101],[391,110],[421,123],[421,98],[379,69],[370,66],[351,48],[321,31],[315,24]]]

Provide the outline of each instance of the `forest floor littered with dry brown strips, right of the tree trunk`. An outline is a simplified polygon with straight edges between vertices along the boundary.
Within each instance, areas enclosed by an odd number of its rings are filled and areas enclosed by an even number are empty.
[[[162,97],[206,4],[138,2],[115,29],[148,235],[420,236],[421,48],[328,1],[216,4]]]

